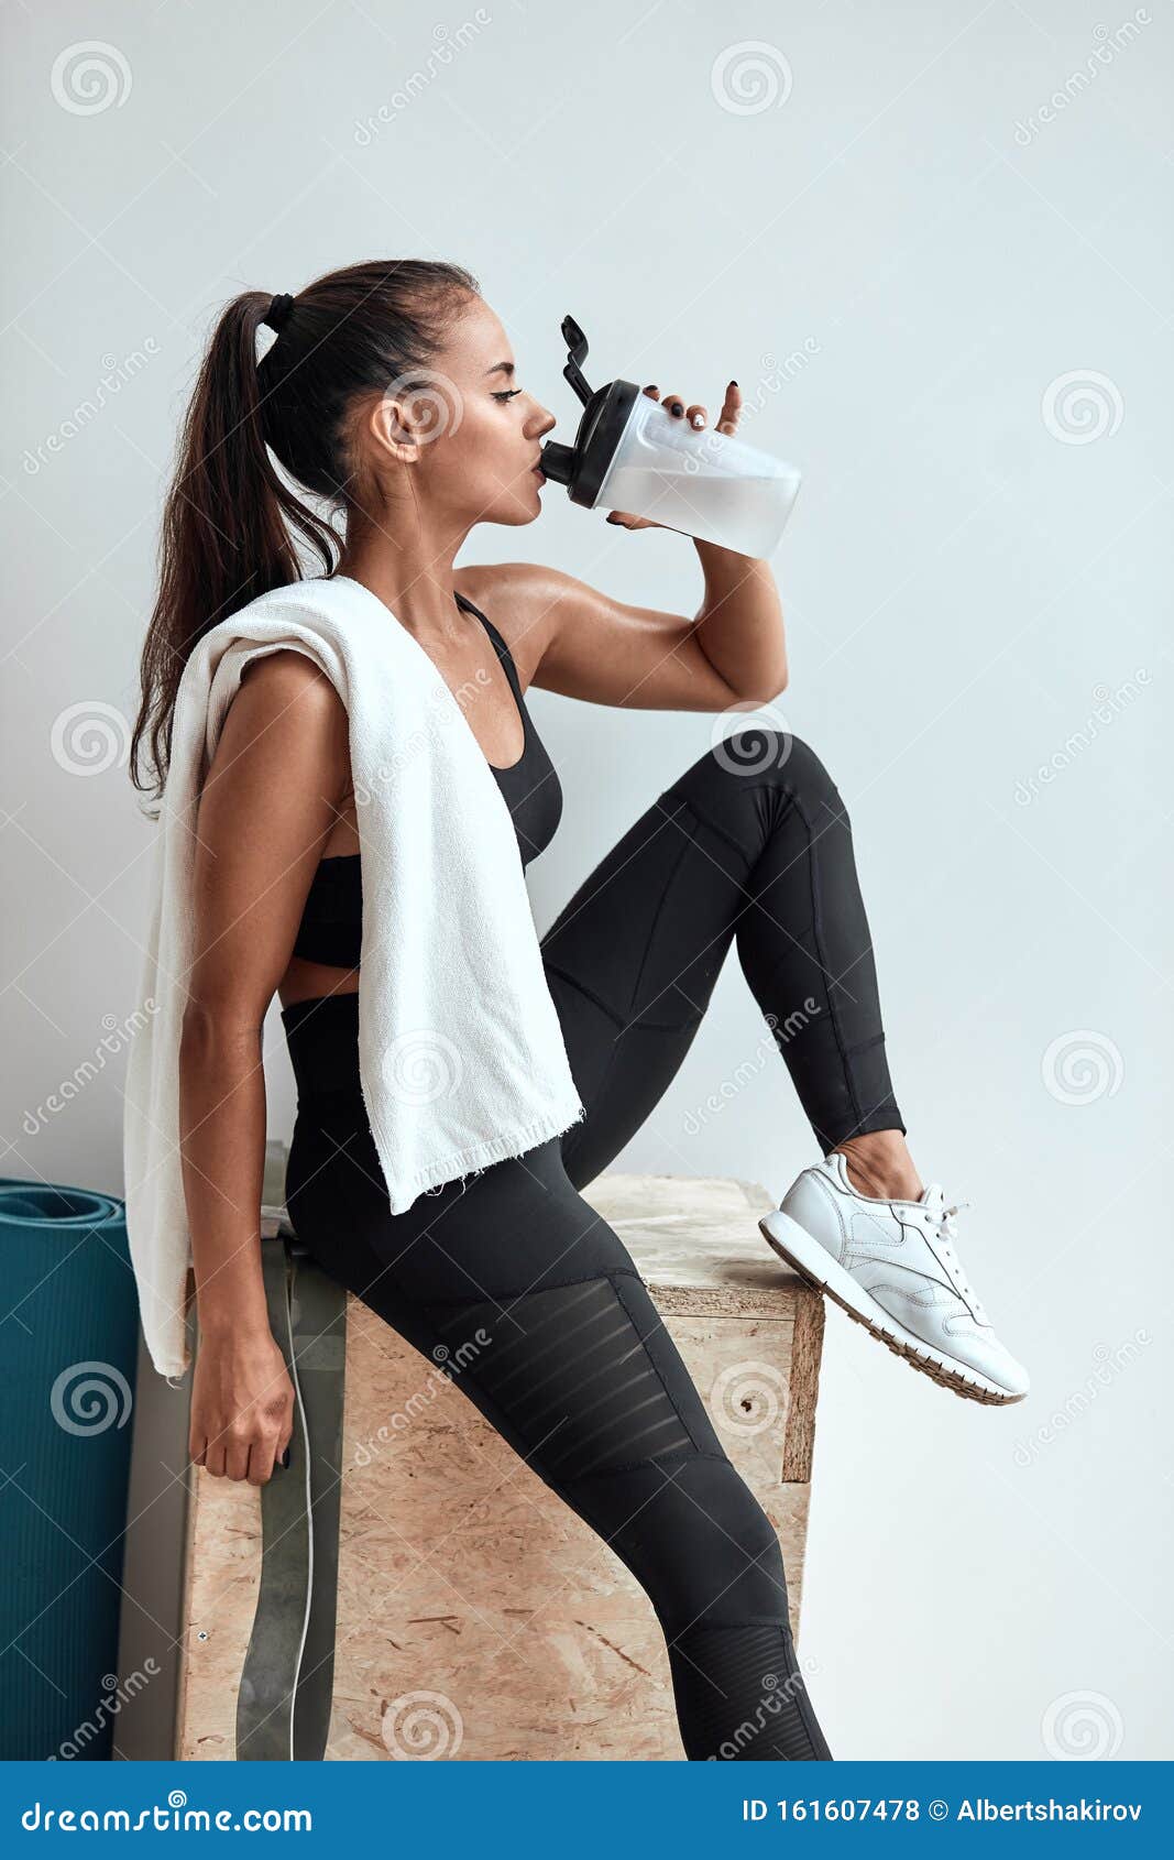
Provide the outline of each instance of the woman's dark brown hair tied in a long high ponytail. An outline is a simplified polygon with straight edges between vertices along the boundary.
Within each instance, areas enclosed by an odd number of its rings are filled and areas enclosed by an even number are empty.
[[[272,292],[246,290],[221,312],[164,504],[158,597],[130,738],[136,789],[147,787],[138,763],[149,733],[153,798],[164,792],[175,698],[203,634],[305,573],[290,530],[322,556],[324,573],[335,567],[339,532],[288,489],[268,452],[346,515],[355,504],[348,422],[355,398],[385,392],[393,381],[411,387],[411,372],[437,353],[469,296],[480,296],[480,285],[460,264],[352,264],[298,292],[260,363],[257,329]]]

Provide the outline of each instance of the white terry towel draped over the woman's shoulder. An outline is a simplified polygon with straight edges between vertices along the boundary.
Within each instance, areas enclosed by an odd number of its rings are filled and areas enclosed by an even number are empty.
[[[348,712],[363,878],[359,1081],[391,1213],[586,1116],[510,809],[441,671],[346,575],[249,601],[197,642],[180,679],[143,1023],[127,1066],[127,1235],[147,1348],[164,1376],[190,1363],[179,1040],[195,952],[195,809],[244,666],[279,647],[313,658]]]

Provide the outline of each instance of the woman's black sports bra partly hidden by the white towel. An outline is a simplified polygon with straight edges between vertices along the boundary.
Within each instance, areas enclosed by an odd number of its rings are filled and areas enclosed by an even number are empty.
[[[456,601],[458,606],[476,614],[493,640],[497,657],[506,668],[514,701],[521,712],[525,727],[521,757],[510,768],[493,768],[493,763],[489,763],[489,768],[510,807],[514,831],[517,833],[517,850],[525,867],[554,839],[562,818],[562,787],[527,711],[510,647],[493,621],[486,619],[482,610],[473,606],[473,601],[467,601],[460,593]],[[359,870],[357,852],[342,852],[318,859],[311,889],[305,895],[305,910],[301,911],[301,923],[294,939],[294,956],[303,956],[307,962],[324,962],[339,969],[359,967],[363,939],[363,884]]]

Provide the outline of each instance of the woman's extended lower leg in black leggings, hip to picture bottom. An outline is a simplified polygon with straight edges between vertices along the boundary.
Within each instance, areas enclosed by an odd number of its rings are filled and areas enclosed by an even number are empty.
[[[820,1754],[813,1717],[746,1743],[763,1689],[783,1674],[791,1698],[802,1683],[778,1534],[558,1142],[393,1216],[367,1123],[300,1107],[287,1205],[320,1265],[443,1369],[644,1587],[687,1754],[735,1737],[740,1756]]]

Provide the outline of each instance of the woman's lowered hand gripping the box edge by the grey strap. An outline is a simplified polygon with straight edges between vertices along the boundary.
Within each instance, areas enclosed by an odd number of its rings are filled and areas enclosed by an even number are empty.
[[[201,1332],[188,1453],[221,1479],[268,1484],[294,1432],[294,1384],[272,1332]]]

